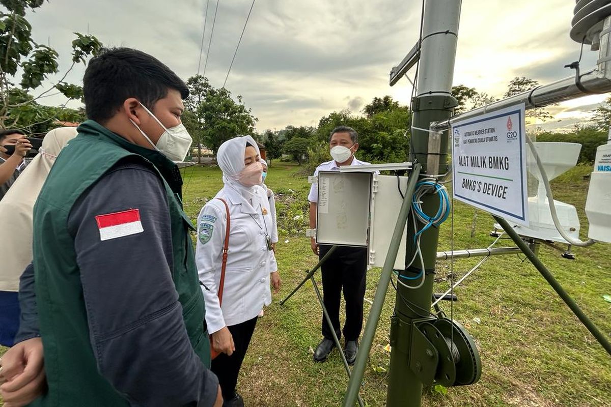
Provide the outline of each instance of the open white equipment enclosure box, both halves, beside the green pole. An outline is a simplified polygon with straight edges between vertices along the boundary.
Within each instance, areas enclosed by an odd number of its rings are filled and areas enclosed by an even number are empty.
[[[397,223],[408,177],[371,172],[320,171],[316,243],[368,247],[368,265],[382,267]],[[405,268],[406,229],[394,267]]]

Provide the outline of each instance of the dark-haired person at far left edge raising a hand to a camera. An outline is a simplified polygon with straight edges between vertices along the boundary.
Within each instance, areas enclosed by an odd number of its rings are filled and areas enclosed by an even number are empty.
[[[0,131],[0,200],[27,167],[24,159],[32,145],[18,130]]]

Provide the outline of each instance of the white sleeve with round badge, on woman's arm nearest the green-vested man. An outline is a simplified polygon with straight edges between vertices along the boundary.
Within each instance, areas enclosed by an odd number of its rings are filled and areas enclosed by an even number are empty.
[[[225,242],[227,215],[216,204],[207,203],[197,217],[197,244],[195,250],[197,273],[202,282],[206,301],[208,333],[225,326],[221,304],[217,297],[217,281],[221,279],[222,251]]]

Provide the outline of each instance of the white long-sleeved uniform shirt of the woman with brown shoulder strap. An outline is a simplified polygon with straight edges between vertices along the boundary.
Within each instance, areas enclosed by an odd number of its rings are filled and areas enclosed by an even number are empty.
[[[264,304],[271,303],[269,273],[277,271],[277,264],[265,236],[271,236],[273,222],[267,192],[262,187],[255,189],[252,207],[242,204],[243,198],[228,187],[215,197],[227,202],[231,222],[222,308],[217,287],[227,226],[225,205],[218,199],[210,200],[197,218],[196,263],[204,284],[208,333],[253,319]]]

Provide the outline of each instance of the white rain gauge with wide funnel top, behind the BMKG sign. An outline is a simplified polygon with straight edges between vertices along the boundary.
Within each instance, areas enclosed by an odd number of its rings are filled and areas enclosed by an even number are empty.
[[[581,145],[578,143],[533,143],[533,145],[535,145],[549,181],[577,165],[581,150]],[[526,152],[529,172],[535,176],[539,186],[536,195],[529,197],[529,227],[517,226],[516,231],[522,236],[568,243],[554,226],[543,178],[535,157],[530,151],[530,146],[527,146]],[[566,234],[579,240],[579,217],[577,217],[575,207],[557,200],[554,200],[554,203],[558,220]]]

